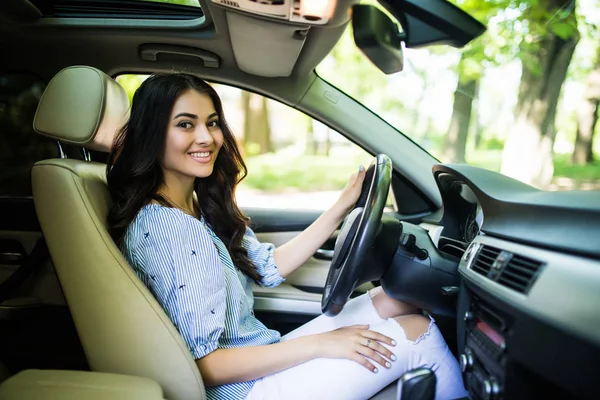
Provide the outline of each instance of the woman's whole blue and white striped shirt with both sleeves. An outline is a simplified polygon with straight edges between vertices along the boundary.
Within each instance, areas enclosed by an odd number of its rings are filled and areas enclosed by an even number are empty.
[[[247,228],[248,257],[273,287],[283,282],[272,244],[260,243]],[[224,243],[204,218],[158,204],[144,206],[129,225],[125,258],[181,334],[194,359],[217,348],[261,346],[280,334],[254,317],[250,279],[240,272]],[[243,399],[255,381],[206,388],[208,399]]]

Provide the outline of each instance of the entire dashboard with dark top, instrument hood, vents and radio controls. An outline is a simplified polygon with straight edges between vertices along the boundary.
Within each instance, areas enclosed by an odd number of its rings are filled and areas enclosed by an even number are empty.
[[[459,257],[458,353],[473,399],[600,398],[600,192],[544,192],[438,165],[422,227]]]

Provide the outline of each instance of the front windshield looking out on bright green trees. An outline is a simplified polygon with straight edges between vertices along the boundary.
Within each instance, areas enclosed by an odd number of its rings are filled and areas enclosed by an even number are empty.
[[[600,189],[598,1],[454,3],[488,27],[464,49],[405,49],[404,70],[385,75],[349,26],[317,73],[441,162]]]

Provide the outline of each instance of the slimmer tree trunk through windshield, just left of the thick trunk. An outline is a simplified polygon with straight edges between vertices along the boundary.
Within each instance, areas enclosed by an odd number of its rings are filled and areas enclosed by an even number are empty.
[[[461,76],[461,70],[459,63],[458,84],[454,91],[454,108],[444,143],[444,162],[465,162],[467,136],[471,122],[473,98],[477,91],[477,80]]]

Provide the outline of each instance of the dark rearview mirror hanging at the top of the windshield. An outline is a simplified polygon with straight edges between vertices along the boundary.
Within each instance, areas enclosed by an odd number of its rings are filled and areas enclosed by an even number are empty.
[[[352,7],[354,43],[383,73],[402,71],[401,34],[398,25],[377,7],[357,4]]]

